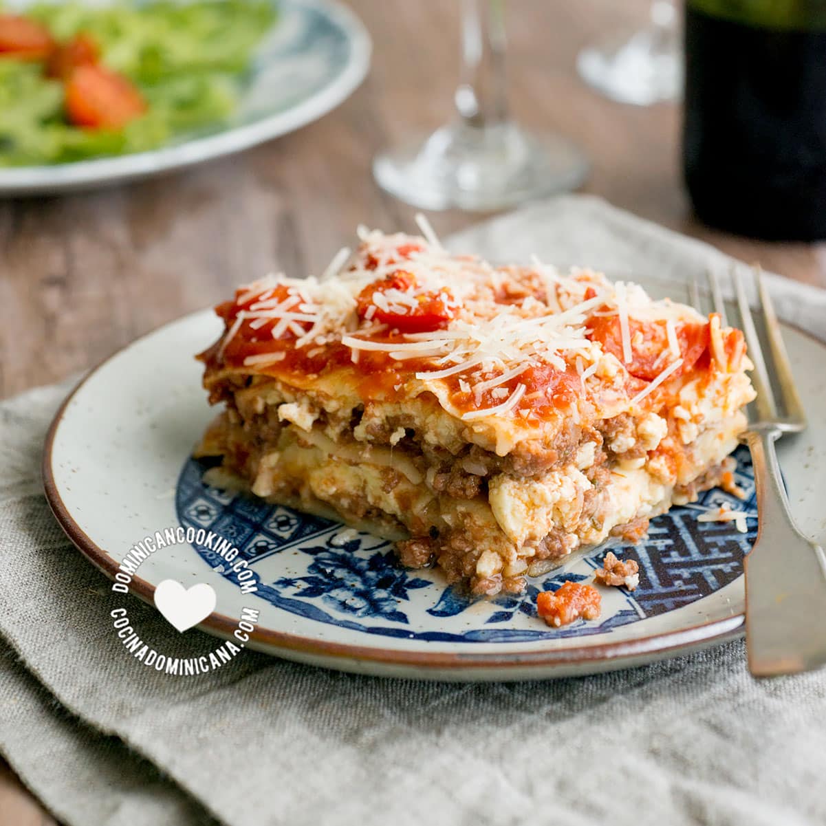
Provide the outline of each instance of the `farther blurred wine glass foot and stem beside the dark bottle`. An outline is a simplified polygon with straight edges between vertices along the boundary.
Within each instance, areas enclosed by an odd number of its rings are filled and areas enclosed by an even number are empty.
[[[675,0],[653,0],[648,25],[614,35],[579,53],[586,83],[620,103],[650,106],[682,93],[682,46]]]

